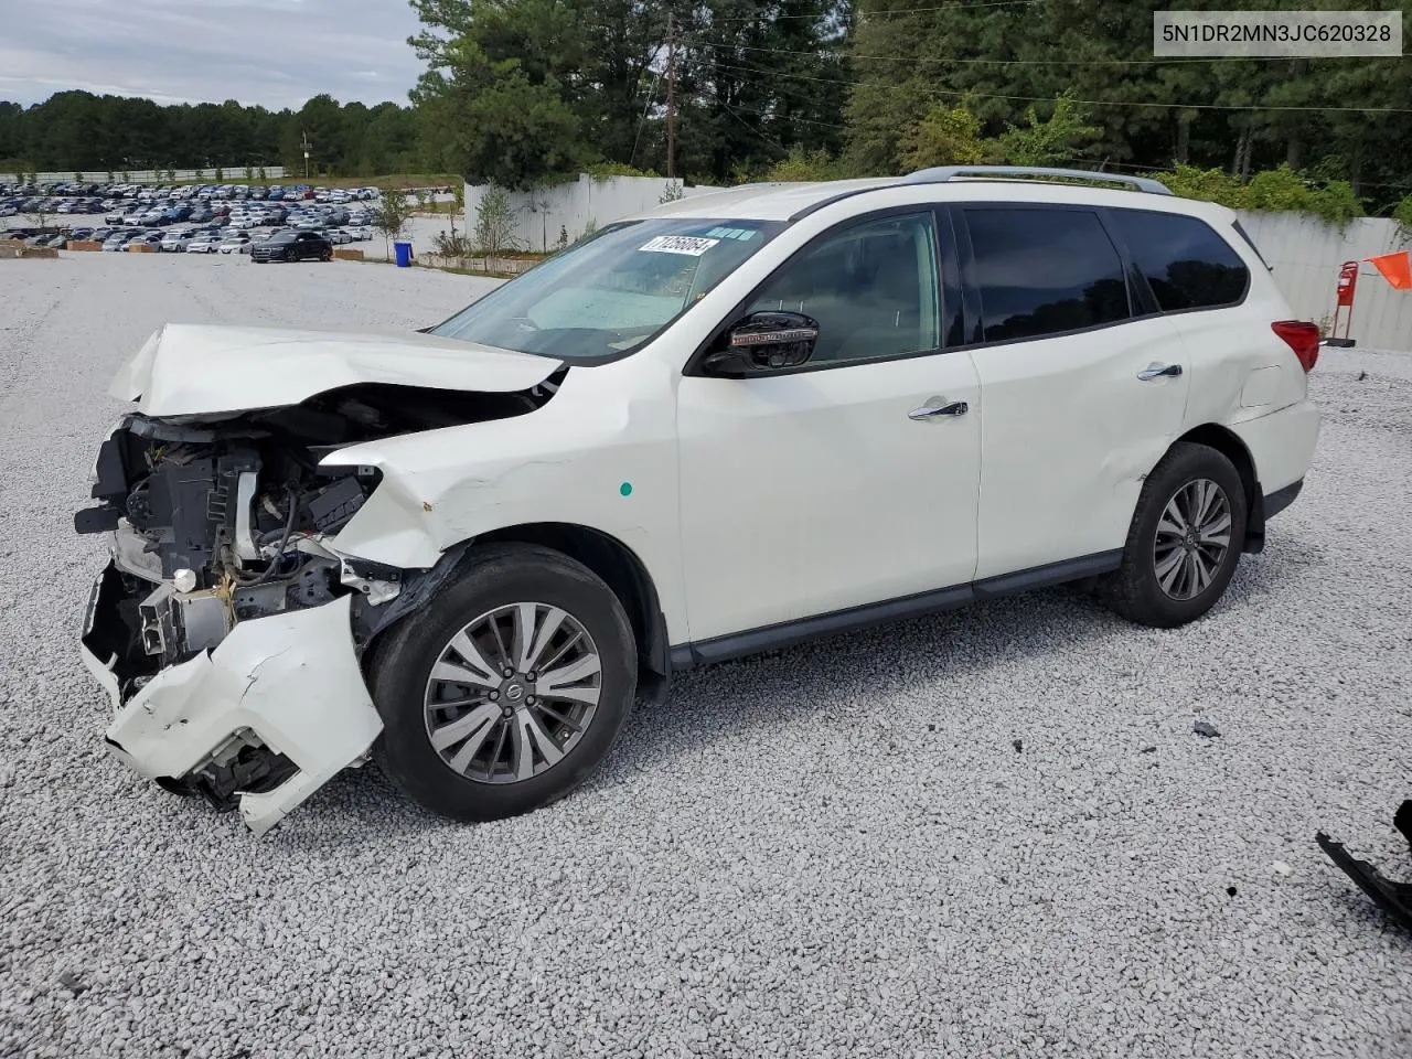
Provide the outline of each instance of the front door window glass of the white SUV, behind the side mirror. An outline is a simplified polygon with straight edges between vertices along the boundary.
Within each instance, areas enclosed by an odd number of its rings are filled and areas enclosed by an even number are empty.
[[[827,234],[777,271],[750,312],[789,309],[819,322],[810,364],[936,349],[936,233],[931,212],[878,217]]]

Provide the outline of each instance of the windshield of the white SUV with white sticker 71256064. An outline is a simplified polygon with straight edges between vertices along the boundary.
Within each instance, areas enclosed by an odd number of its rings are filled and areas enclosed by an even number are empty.
[[[616,225],[491,291],[431,333],[563,360],[627,353],[782,227],[685,217]]]

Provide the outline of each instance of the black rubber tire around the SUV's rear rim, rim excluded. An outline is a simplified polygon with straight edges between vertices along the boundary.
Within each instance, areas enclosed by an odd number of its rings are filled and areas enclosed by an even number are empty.
[[[1226,497],[1230,541],[1214,561],[1209,583],[1189,599],[1176,599],[1158,578],[1158,524],[1182,490],[1203,480],[1214,483]],[[1101,597],[1118,614],[1139,626],[1176,628],[1195,621],[1216,604],[1236,573],[1245,542],[1247,514],[1245,486],[1223,453],[1190,442],[1173,445],[1142,484],[1123,549],[1123,565],[1100,585]]]

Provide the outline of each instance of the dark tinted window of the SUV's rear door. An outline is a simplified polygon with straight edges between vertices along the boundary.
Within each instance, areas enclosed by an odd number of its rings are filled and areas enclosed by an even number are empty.
[[[987,342],[1059,335],[1131,316],[1123,258],[1099,215],[966,209]]]

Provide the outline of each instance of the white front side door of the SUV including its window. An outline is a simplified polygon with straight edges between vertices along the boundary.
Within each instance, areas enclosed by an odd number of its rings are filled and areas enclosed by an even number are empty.
[[[863,217],[806,244],[737,315],[813,318],[808,363],[741,378],[688,367],[678,452],[693,642],[969,592],[977,378],[966,353],[940,350],[939,302],[933,213]],[[729,342],[722,330],[714,343]]]

